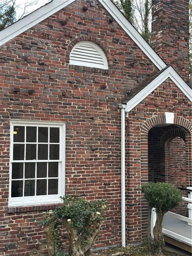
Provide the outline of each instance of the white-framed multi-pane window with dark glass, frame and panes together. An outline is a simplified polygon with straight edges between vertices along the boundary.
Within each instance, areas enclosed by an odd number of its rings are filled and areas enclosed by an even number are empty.
[[[65,123],[13,120],[8,206],[58,203],[65,186]]]

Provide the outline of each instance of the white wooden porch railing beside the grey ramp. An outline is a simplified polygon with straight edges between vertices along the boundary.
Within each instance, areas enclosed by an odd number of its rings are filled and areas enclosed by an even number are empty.
[[[185,222],[187,222],[187,225],[192,226],[192,187],[187,187],[187,189],[189,189],[191,191],[188,194],[188,198],[183,197],[183,201],[188,203],[187,208],[188,208],[188,211],[189,211],[189,218],[184,217],[184,216],[179,215],[179,214],[176,214],[176,213],[173,213],[173,212],[167,212],[165,215],[170,216],[170,217],[175,218],[175,219],[185,221]],[[157,214],[156,214],[155,209],[153,208],[152,213],[151,213],[151,237],[152,238],[154,238],[153,228],[155,226],[156,218],[157,218]],[[177,239],[181,242],[192,245],[192,238],[190,239],[188,237],[182,236],[182,235],[177,234],[175,232],[172,232],[172,231],[170,231],[166,228],[162,229],[162,233],[165,234],[165,235],[168,235],[170,237],[173,237],[173,238],[175,238],[175,239]]]

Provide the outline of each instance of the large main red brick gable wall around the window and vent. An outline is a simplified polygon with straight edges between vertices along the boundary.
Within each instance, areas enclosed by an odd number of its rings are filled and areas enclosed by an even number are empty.
[[[107,198],[97,246],[121,244],[118,103],[126,90],[138,87],[157,70],[109,18],[97,2],[78,1],[0,47],[0,251],[20,256],[36,252],[45,242],[38,220],[43,210],[53,208],[8,209],[11,119],[67,122],[66,193],[75,189],[91,200]],[[100,45],[109,70],[69,65],[70,49],[78,40]],[[29,89],[35,92],[29,94]]]

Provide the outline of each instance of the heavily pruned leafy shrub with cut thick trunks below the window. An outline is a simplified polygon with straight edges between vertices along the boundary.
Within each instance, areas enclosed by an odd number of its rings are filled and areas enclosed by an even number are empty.
[[[89,256],[98,236],[106,208],[106,200],[88,201],[83,197],[66,195],[63,204],[43,213],[49,256],[64,255],[58,226],[64,225],[69,239],[69,256]]]

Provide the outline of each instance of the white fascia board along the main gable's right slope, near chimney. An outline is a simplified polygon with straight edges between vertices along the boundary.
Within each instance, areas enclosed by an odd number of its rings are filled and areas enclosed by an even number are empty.
[[[115,7],[111,0],[99,0],[99,2],[159,70],[162,70],[167,66],[165,62],[159,57],[159,55],[143,39],[139,32],[125,18],[125,16]]]

